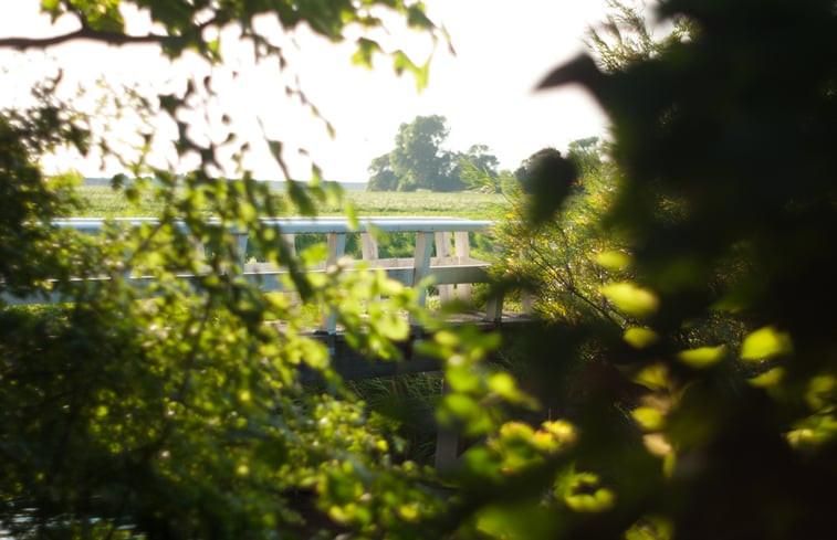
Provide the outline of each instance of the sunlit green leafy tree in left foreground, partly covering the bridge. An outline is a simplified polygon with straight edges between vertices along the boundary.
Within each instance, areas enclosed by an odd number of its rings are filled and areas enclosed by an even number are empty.
[[[385,10],[388,20],[433,32],[417,2],[41,6],[53,20],[74,18],[80,29],[4,38],[0,47],[153,43],[172,57],[190,50],[219,63],[216,36],[234,25],[257,55],[285,65],[281,49],[254,23],[260,15],[273,14],[286,32],[305,24],[342,40],[347,25],[378,27],[375,13]],[[126,8],[147,10],[151,33],[128,33]],[[367,36],[357,44],[363,63],[379,51]],[[401,52],[394,56],[421,82],[422,67]],[[262,260],[287,267],[287,286],[304,305],[334,306],[360,351],[397,356],[393,340],[408,328],[393,314],[422,314],[409,289],[380,276],[336,269],[312,279],[304,269],[322,261],[321,250],[293,256],[259,218],[313,214],[336,190],[316,171],[312,186],[289,182],[284,197],[248,171],[236,180],[215,176],[217,151],[234,144],[234,134],[222,142],[196,139],[190,109],[201,107],[201,93],[212,85],[182,83],[171,93],[119,88],[109,96],[119,114],[171,121],[177,135],[165,142],[199,166],[176,174],[153,167],[143,151],[116,156],[132,177],[115,177],[114,189],[128,201],[156,200],[161,210],[139,226],[109,223],[100,237],[54,224],[76,199],[70,177],[45,177],[39,160],[60,146],[108,155],[102,131],[108,118],[84,109],[90,102],[62,102],[60,77],[35,89],[31,108],[0,112],[0,530],[13,538],[408,536],[407,509],[398,513],[398,505],[359,496],[400,494],[410,511],[431,515],[435,498],[412,485],[418,468],[400,463],[386,423],[342,385],[326,347],[306,335],[303,309],[243,279],[247,254],[230,232],[249,230]],[[149,129],[139,137],[140,147],[150,148],[163,135]],[[283,165],[281,141],[265,145]],[[210,246],[205,260],[195,257],[196,245]],[[177,278],[181,273],[197,277],[187,283]],[[138,276],[154,279],[144,287],[129,279]],[[386,322],[360,317],[357,300],[378,293],[386,294],[379,304]],[[65,304],[8,305],[51,295]],[[284,324],[278,328],[276,320]],[[321,387],[303,385],[303,371]]]

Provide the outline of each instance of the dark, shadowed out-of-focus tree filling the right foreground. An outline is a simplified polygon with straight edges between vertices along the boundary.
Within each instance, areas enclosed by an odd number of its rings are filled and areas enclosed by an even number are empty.
[[[604,73],[582,56],[542,84],[580,84],[610,116],[621,178],[601,224],[634,274],[601,292],[636,322],[552,324],[522,341],[531,392],[550,404],[571,387],[578,401],[541,425],[520,413],[465,458],[447,530],[833,533],[835,4],[668,0],[659,14],[694,32]],[[553,211],[572,202],[561,195]],[[703,331],[719,318],[742,332]]]

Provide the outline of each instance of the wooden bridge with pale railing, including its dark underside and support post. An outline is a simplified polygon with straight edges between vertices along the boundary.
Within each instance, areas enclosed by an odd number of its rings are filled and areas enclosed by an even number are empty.
[[[297,239],[306,234],[325,235],[327,245],[326,261],[317,267],[308,268],[310,273],[325,273],[338,264],[348,272],[353,266],[363,262],[372,269],[383,271],[389,278],[418,290],[418,303],[426,305],[428,285],[432,283],[439,292],[442,304],[453,299],[469,301],[471,286],[488,283],[490,262],[471,256],[471,235],[490,234],[494,225],[492,221],[464,220],[456,218],[360,218],[352,224],[345,218],[266,218],[261,220],[264,225],[275,227],[279,241],[295,252]],[[209,220],[211,223],[212,220]],[[107,223],[124,226],[139,226],[156,223],[146,218],[117,218],[104,220],[98,218],[75,218],[56,220],[54,225],[72,229],[87,234],[100,234]],[[219,222],[218,222],[219,223]],[[186,226],[179,223],[179,226]],[[379,257],[376,237],[381,234],[415,233],[416,240],[410,257]],[[263,293],[283,292],[283,276],[286,268],[270,263],[252,262],[248,260],[249,231],[230,229],[234,236],[237,256],[242,268],[241,275]],[[359,235],[360,258],[346,261],[346,241],[348,235]],[[196,245],[196,256],[206,257],[207,248]],[[134,280],[138,288],[150,278],[145,276],[126,276]],[[180,279],[196,279],[199,275],[181,274]],[[428,279],[430,278],[430,279]],[[88,279],[107,279],[106,277],[91,277]],[[57,293],[45,292],[39,296],[17,297],[1,292],[0,296],[9,305],[46,304],[72,301],[72,298],[61,297]],[[525,303],[524,303],[525,306]],[[478,316],[462,317],[461,324],[482,325],[489,329],[511,329],[517,324],[525,324],[529,318],[524,314],[504,314],[502,298],[492,298],[486,310]],[[522,316],[523,315],[523,316]],[[399,343],[404,361],[381,361],[358,354],[347,346],[342,338],[333,313],[322,313],[320,325],[312,329],[312,335],[324,340],[332,353],[333,367],[345,379],[368,379],[377,377],[393,377],[407,373],[439,371],[439,360],[423,356],[415,350],[415,340],[423,339],[425,331],[418,326],[412,327],[410,339]],[[437,466],[447,466],[456,460],[457,437],[452,433],[441,431],[437,441]]]

